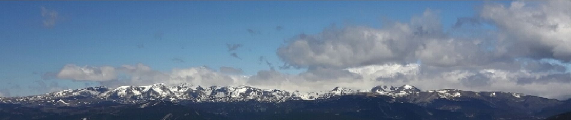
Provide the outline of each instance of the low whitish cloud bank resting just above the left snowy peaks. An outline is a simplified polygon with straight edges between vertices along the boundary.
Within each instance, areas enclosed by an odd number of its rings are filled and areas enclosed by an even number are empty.
[[[77,67],[68,64],[58,73],[58,78],[78,81],[95,81],[100,85],[116,87],[120,85],[150,85],[164,84],[195,84],[195,85],[246,85],[246,76],[233,75],[242,73],[242,69],[231,67],[221,68],[216,72],[208,67],[192,67],[172,69],[171,72],[160,72],[144,64],[121,65],[120,67]],[[103,75],[105,74],[105,75]],[[114,75],[114,76],[107,76]],[[43,81],[38,81],[45,86]],[[35,87],[35,86],[34,86]],[[34,88],[33,87],[33,88]]]

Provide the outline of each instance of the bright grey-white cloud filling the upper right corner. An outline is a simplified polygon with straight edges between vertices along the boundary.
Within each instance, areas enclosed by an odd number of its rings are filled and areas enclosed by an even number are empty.
[[[480,17],[494,24],[514,56],[571,60],[571,1],[536,4],[516,1],[510,6],[487,4]]]

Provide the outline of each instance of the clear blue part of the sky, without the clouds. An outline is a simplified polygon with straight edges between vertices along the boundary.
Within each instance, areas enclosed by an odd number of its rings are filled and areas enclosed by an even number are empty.
[[[510,1],[494,1],[509,5]],[[484,1],[1,1],[0,88],[13,96],[29,90],[46,72],[66,64],[115,66],[142,63],[158,71],[206,65],[241,68],[245,75],[276,67],[276,49],[299,34],[337,26],[383,27],[408,23],[425,10],[439,13],[444,28],[472,17]],[[42,9],[55,11],[45,25]],[[277,30],[276,27],[282,27]],[[248,32],[254,31],[254,33]],[[228,51],[227,44],[242,44]],[[236,53],[240,59],[230,56]],[[176,62],[180,59],[184,62]],[[297,74],[305,69],[279,69]],[[38,75],[34,74],[37,73]],[[7,84],[10,83],[10,84]],[[69,88],[83,82],[60,80]],[[31,88],[29,88],[31,87]]]

